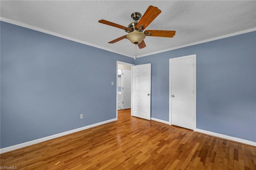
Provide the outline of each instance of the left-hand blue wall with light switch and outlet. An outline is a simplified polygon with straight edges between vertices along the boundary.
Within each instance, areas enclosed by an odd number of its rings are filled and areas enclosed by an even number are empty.
[[[1,148],[116,118],[116,61],[134,59],[0,24]]]

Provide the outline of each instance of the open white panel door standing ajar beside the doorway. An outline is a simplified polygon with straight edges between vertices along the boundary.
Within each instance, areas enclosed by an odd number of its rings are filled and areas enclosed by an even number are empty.
[[[151,119],[151,64],[132,66],[132,116]]]

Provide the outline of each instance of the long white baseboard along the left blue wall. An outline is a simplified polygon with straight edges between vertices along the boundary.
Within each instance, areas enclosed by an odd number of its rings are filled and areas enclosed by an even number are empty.
[[[30,146],[32,144],[37,144],[37,143],[40,143],[40,142],[44,142],[46,140],[50,140],[50,139],[53,139],[53,138],[58,138],[60,136],[65,136],[67,134],[71,134],[71,133],[78,132],[78,131],[81,131],[81,130],[85,130],[85,129],[88,129],[88,128],[96,127],[96,126],[103,125],[105,123],[110,123],[110,122],[113,122],[113,121],[117,121],[117,119],[116,118],[115,119],[110,119],[110,120],[103,121],[103,122],[100,122],[100,123],[95,123],[95,124],[92,124],[92,125],[88,125],[86,127],[76,128],[76,129],[69,130],[69,131],[66,131],[66,132],[62,132],[62,133],[54,134],[54,135],[51,135],[51,136],[47,136],[47,137],[44,137],[44,138],[31,140],[31,141],[24,142],[24,143],[21,143],[21,144],[16,144],[16,145],[13,145],[13,146],[2,148],[2,149],[0,149],[0,153],[2,154],[4,152],[9,152],[11,150],[16,150],[16,149],[19,149],[19,148]]]

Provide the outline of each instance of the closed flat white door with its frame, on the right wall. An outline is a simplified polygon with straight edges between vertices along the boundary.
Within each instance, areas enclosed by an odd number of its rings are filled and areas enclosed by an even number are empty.
[[[170,124],[196,130],[195,57],[170,59]]]

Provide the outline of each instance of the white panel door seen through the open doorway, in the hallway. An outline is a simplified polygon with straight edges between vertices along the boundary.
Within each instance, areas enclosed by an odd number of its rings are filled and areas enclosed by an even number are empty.
[[[131,70],[122,70],[122,109],[131,108],[132,77]]]

